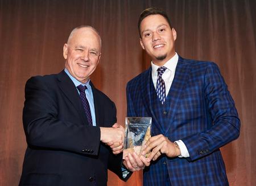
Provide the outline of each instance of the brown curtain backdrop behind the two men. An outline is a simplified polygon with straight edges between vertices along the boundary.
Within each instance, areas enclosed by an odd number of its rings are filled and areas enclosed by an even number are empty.
[[[176,51],[215,61],[241,119],[238,140],[221,148],[230,185],[254,185],[256,47],[254,0],[1,0],[0,1],[0,185],[18,185],[26,139],[22,126],[24,84],[35,75],[64,68],[63,44],[72,28],[95,27],[102,36],[100,65],[92,77],[126,116],[126,83],[150,66],[139,45],[141,11],[166,10],[177,31]],[[108,185],[142,185],[142,172],[127,183],[109,172]]]

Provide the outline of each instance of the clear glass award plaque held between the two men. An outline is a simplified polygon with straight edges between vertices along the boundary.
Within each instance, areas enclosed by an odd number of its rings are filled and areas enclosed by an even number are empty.
[[[141,147],[151,137],[151,122],[151,117],[126,117],[123,143],[126,152],[136,152],[138,155],[141,153]]]

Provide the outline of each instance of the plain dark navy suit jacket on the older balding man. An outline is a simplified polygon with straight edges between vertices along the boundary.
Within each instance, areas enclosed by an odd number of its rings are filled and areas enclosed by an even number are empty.
[[[28,146],[20,185],[106,185],[108,168],[122,179],[122,154],[113,155],[100,142],[100,127],[117,121],[114,102],[90,85],[96,127],[88,125],[79,93],[64,71],[27,81],[23,127]]]

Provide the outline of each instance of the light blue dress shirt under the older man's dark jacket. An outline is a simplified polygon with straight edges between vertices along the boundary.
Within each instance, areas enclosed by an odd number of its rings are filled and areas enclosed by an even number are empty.
[[[68,72],[67,68],[65,68],[64,71],[71,78],[71,80],[73,81],[73,83],[75,84],[76,87],[79,86],[79,85],[84,85],[84,86],[87,87],[87,89],[85,90],[85,95],[86,95],[86,98],[87,98],[87,100],[89,102],[89,105],[90,105],[90,114],[92,114],[93,126],[96,126],[93,92],[92,92],[92,87],[89,84],[90,80],[85,82],[85,84],[84,84],[84,83],[80,82],[79,80],[77,80],[75,77],[71,76],[71,74]],[[77,89],[77,92],[80,94],[78,89]]]

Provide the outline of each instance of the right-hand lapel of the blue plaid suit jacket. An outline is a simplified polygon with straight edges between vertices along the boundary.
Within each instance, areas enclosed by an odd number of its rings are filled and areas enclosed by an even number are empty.
[[[171,128],[171,124],[174,121],[175,113],[179,109],[179,101],[180,95],[185,88],[185,84],[188,81],[189,77],[189,65],[187,65],[186,61],[179,56],[179,60],[177,63],[177,67],[175,70],[174,81],[172,82],[171,89],[168,93],[168,100],[170,100],[170,120],[168,121],[164,135],[167,135],[168,131]]]

